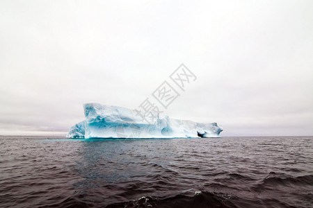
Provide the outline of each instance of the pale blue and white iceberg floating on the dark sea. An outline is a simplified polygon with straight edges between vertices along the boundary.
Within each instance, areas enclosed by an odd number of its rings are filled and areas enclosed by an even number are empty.
[[[138,110],[86,103],[86,119],[75,124],[67,138],[191,138],[220,137],[223,128],[217,123],[196,123],[170,119],[157,112],[142,116]]]

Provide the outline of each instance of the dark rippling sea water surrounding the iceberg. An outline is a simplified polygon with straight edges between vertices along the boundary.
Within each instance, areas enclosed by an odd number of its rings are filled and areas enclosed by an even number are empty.
[[[0,137],[0,207],[313,207],[313,137]]]

